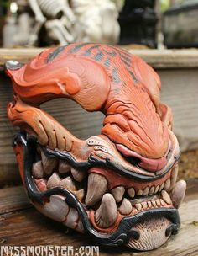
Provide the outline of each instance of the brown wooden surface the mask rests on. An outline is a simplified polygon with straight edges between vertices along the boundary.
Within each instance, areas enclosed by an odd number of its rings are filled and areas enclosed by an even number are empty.
[[[100,247],[106,255],[198,255],[198,180],[187,183],[187,193],[180,206],[181,228],[178,235],[157,250],[137,253],[129,248]],[[1,245],[96,245],[90,237],[68,230],[36,211],[25,195],[23,187],[0,189],[0,246]]]

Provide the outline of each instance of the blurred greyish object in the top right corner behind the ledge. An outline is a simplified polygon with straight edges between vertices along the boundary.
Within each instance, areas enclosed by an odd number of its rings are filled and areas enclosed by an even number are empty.
[[[198,46],[198,1],[185,1],[164,13],[162,22],[167,48]]]

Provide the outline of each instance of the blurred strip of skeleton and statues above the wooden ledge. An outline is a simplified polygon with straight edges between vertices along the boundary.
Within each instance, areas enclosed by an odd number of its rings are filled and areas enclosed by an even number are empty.
[[[196,0],[1,0],[0,45],[196,47],[197,14]]]

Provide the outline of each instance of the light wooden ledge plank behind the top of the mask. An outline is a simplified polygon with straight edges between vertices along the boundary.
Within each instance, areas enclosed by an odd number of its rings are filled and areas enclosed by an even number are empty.
[[[189,68],[198,67],[198,51],[191,50],[151,50],[131,49],[131,46],[119,46],[136,54],[147,61],[154,68]],[[8,60],[17,60],[25,63],[35,55],[44,51],[42,48],[0,49],[0,67]]]

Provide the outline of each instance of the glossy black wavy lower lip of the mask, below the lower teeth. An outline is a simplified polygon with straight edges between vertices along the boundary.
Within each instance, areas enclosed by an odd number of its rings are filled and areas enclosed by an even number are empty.
[[[34,146],[35,140],[26,137],[23,133],[18,133],[13,138],[13,146],[17,144],[23,145],[23,164],[24,164],[24,182],[26,189],[31,200],[38,202],[39,204],[44,204],[44,198],[49,198],[50,195],[64,195],[65,202],[70,205],[70,207],[76,208],[79,215],[81,216],[81,221],[85,231],[93,237],[97,243],[108,247],[117,247],[128,242],[129,238],[138,239],[138,232],[133,229],[133,227],[141,221],[147,220],[148,218],[164,216],[169,219],[172,224],[166,230],[166,236],[168,237],[170,233],[175,234],[180,228],[180,216],[175,208],[160,208],[148,211],[142,211],[135,216],[126,216],[122,219],[117,231],[111,234],[104,234],[97,232],[91,226],[91,222],[87,216],[86,208],[81,204],[69,190],[63,188],[54,188],[47,190],[45,192],[39,192],[36,189],[34,181],[31,177],[31,167],[33,164]],[[34,144],[34,145],[33,145]]]

